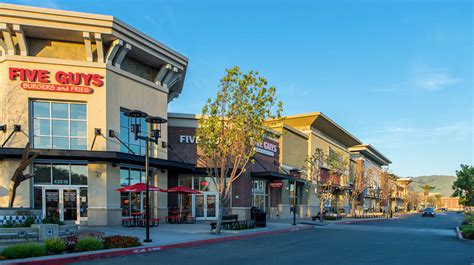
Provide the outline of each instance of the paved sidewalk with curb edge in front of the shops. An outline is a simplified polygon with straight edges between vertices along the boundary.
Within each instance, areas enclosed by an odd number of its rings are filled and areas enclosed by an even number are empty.
[[[125,228],[122,226],[112,227],[87,227],[80,228],[83,233],[94,232],[105,235],[137,236],[142,241],[141,247],[126,249],[108,249],[100,251],[62,254],[38,258],[6,260],[0,264],[67,264],[79,261],[105,259],[118,256],[134,255],[147,252],[157,252],[175,248],[186,248],[214,244],[239,239],[275,235],[296,231],[314,229],[314,226],[299,224],[293,226],[287,223],[267,223],[265,228],[257,228],[241,231],[223,230],[220,235],[211,234],[208,224],[160,224],[159,227],[150,228],[151,243],[143,243],[145,228]]]

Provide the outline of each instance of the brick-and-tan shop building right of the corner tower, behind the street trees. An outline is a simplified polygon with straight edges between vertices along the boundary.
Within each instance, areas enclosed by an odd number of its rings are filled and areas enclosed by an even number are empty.
[[[206,165],[199,159],[200,150],[195,136],[201,116],[169,113],[168,118],[169,159],[196,165],[196,170],[191,174],[170,171],[168,184],[183,185],[203,192],[199,195],[170,195],[168,207],[192,212],[198,220],[215,219],[218,211],[217,189],[207,177]],[[225,212],[238,214],[239,219],[248,219],[252,207],[266,212],[269,219],[291,218],[294,196],[298,217],[317,215],[319,201],[306,174],[306,159],[316,149],[321,149],[325,154],[338,152],[351,161],[363,157],[367,160],[366,167],[373,160],[383,165],[390,163],[372,146],[370,151],[365,150],[369,145],[363,145],[359,139],[320,112],[286,116],[278,121],[268,121],[267,126],[268,134],[264,142],[257,146],[254,162],[249,163],[248,172],[233,184],[231,199],[224,205]],[[351,148],[354,146],[360,148]],[[358,156],[352,159],[355,153]],[[322,168],[321,174],[329,175],[329,169]],[[380,179],[376,181],[379,182]],[[326,202],[325,210],[349,213],[350,179],[341,177],[335,184],[337,187],[333,198]],[[378,186],[371,187],[371,190],[375,189]],[[369,191],[361,195],[360,205],[364,204],[364,196],[369,197]]]

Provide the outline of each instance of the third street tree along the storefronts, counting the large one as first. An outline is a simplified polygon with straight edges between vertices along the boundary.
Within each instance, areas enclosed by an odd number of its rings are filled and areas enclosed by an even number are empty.
[[[350,193],[350,203],[351,203],[351,215],[355,216],[357,200],[359,196],[366,191],[367,189],[373,186],[373,179],[376,177],[376,169],[369,168],[367,172],[364,172],[364,161],[357,160],[356,169],[353,174],[351,174],[351,193]]]

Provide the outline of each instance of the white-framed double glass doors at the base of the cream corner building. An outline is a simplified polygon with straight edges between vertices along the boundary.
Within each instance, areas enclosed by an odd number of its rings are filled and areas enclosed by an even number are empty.
[[[78,188],[43,187],[43,216],[53,220],[79,222]]]

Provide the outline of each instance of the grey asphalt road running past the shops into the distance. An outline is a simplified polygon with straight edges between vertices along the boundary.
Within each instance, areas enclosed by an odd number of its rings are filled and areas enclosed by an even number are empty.
[[[173,249],[87,264],[474,264],[474,244],[456,239],[455,213],[328,225],[194,248]]]

